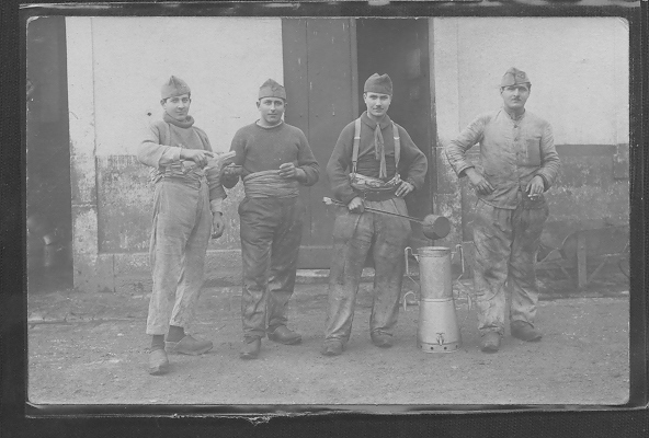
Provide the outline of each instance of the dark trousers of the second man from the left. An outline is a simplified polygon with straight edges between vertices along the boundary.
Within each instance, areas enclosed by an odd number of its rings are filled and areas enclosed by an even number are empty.
[[[298,197],[246,197],[239,204],[244,337],[263,337],[286,325],[295,288],[304,206]]]

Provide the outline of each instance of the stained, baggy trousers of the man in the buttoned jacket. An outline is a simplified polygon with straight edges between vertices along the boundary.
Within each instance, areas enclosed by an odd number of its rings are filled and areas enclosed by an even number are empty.
[[[534,324],[538,302],[534,263],[547,217],[545,201],[537,208],[521,205],[510,210],[478,200],[474,284],[480,334],[504,333],[505,287],[511,293],[510,323]]]

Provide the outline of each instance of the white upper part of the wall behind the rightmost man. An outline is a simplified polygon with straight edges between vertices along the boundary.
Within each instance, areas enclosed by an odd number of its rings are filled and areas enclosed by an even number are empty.
[[[502,105],[510,67],[530,76],[531,112],[558,145],[628,142],[628,26],[617,18],[432,20],[437,129],[443,143]]]

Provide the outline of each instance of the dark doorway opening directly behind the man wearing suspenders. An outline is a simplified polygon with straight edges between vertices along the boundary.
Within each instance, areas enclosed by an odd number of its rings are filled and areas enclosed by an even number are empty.
[[[406,198],[410,216],[423,218],[433,211],[432,175],[435,157],[431,117],[429,22],[426,19],[356,20],[358,64],[358,114],[365,111],[363,85],[373,73],[388,73],[394,96],[388,115],[401,125],[429,160],[424,187]],[[421,226],[412,224],[411,246],[430,245]]]

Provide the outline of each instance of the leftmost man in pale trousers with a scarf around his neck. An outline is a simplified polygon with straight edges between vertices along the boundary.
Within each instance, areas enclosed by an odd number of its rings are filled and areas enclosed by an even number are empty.
[[[167,350],[201,355],[212,342],[185,334],[203,286],[205,253],[224,232],[220,169],[206,168],[214,157],[202,129],[187,114],[191,91],[180,78],[162,85],[163,119],[150,125],[137,159],[151,166],[156,185],[150,242],[153,289],[147,334],[152,335],[149,373],[168,371]],[[169,318],[171,313],[171,319]],[[167,335],[167,338],[164,338]]]

